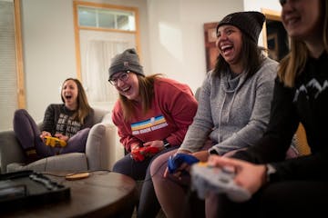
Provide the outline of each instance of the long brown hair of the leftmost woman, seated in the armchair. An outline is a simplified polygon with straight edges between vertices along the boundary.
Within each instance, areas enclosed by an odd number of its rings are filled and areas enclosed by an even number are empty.
[[[92,111],[91,106],[87,102],[87,94],[86,94],[81,82],[78,79],[74,79],[74,78],[67,78],[62,84],[62,89],[63,89],[63,85],[68,80],[72,80],[77,84],[77,112],[75,114],[73,114],[73,117],[79,123],[84,124],[85,118]],[[63,98],[62,92],[60,92],[60,96],[61,96],[63,103],[65,104],[65,100]]]

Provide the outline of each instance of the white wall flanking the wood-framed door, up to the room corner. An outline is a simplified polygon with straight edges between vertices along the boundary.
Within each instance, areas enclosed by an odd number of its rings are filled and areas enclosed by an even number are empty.
[[[141,56],[148,69],[147,2],[89,2],[138,7]],[[48,104],[61,103],[59,87],[62,82],[67,77],[77,77],[73,0],[22,0],[21,5],[26,109],[36,120],[42,120]]]

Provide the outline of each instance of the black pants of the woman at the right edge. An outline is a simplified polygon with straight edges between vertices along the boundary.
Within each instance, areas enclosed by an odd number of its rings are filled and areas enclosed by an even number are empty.
[[[271,183],[246,203],[232,203],[223,194],[211,194],[206,199],[206,217],[325,217],[327,196],[326,182]]]

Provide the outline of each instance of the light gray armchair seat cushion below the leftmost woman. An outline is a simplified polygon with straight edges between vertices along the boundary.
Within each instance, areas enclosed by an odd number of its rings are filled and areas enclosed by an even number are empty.
[[[60,154],[38,160],[34,163],[24,165],[24,163],[10,163],[7,165],[7,173],[33,170],[36,172],[44,171],[87,171],[87,156],[82,153]]]

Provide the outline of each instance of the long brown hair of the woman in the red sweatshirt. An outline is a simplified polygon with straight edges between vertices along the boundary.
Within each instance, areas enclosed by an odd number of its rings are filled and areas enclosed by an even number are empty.
[[[161,75],[162,74],[152,74],[148,76],[143,76],[137,74],[138,84],[139,84],[139,95],[142,101],[141,102],[142,112],[144,114],[147,113],[151,107],[154,97],[154,83],[155,80]],[[133,111],[134,102],[128,100],[128,98],[122,94],[119,94],[118,98],[120,104],[122,105],[124,119],[128,121],[134,114]]]

